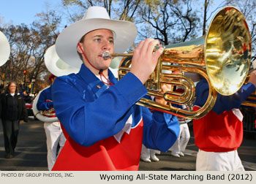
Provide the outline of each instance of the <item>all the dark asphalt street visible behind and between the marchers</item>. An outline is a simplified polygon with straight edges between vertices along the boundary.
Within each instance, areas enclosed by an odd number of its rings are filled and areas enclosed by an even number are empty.
[[[190,127],[191,128],[191,127]],[[159,162],[140,161],[141,171],[195,171],[197,147],[193,135],[187,145],[185,156],[176,158],[170,152],[158,155]],[[244,167],[248,171],[256,170],[256,143],[253,136],[244,135],[244,141],[238,149]],[[0,125],[0,170],[2,171],[47,171],[45,131],[39,120],[20,123],[20,134],[15,158],[4,158],[4,137]]]

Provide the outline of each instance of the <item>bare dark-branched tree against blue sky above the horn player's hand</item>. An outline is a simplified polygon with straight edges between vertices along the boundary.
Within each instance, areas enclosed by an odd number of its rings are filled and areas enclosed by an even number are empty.
[[[148,37],[146,30],[151,26],[151,33],[165,45],[184,42],[197,36],[199,18],[192,9],[192,1],[155,1],[140,7],[144,23],[140,26],[140,36]],[[144,28],[143,28],[144,27]],[[146,34],[145,34],[146,33]]]

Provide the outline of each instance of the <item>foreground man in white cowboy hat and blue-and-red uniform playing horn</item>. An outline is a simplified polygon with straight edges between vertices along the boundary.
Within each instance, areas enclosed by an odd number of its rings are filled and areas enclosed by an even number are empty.
[[[176,141],[176,116],[152,114],[135,104],[147,93],[143,83],[163,51],[153,52],[159,41],[140,42],[130,72],[119,81],[108,69],[111,58],[102,58],[106,50],[123,53],[136,34],[133,23],[111,20],[103,7],[89,7],[59,35],[59,57],[79,64],[80,71],[53,83],[53,105],[67,137],[53,170],[138,170],[142,144],[167,151]]]

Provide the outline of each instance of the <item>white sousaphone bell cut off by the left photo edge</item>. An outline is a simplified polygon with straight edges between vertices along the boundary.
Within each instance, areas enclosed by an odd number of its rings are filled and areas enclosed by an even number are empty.
[[[10,44],[7,37],[0,31],[0,66],[6,63],[10,56]]]

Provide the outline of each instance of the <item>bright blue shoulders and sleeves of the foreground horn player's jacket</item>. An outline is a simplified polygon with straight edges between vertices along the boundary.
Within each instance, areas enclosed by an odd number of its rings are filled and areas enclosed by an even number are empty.
[[[108,70],[113,86],[107,88],[85,65],[78,74],[57,77],[52,86],[56,115],[70,137],[88,147],[117,134],[132,115],[135,128],[143,117],[143,144],[168,150],[179,134],[176,116],[154,111],[135,103],[146,95],[144,85],[128,73],[117,81]]]

